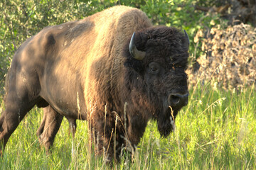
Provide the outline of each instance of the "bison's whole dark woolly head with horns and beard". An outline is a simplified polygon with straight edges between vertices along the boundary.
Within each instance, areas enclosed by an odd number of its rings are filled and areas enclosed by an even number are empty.
[[[178,111],[188,103],[188,45],[186,31],[168,27],[134,33],[129,42],[125,65],[132,68],[132,88],[136,86],[139,95],[144,94],[146,107],[164,137],[173,130]]]

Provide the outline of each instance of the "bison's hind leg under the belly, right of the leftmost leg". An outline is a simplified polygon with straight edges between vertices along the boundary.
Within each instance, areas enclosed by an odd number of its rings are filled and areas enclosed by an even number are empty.
[[[60,129],[63,120],[63,115],[56,112],[50,105],[43,108],[43,120],[38,128],[39,142],[46,148],[46,153],[49,154],[50,148],[53,146],[55,135]]]

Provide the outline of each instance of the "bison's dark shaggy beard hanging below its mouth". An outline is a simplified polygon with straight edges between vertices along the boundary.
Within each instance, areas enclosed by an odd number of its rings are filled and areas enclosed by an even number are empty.
[[[159,114],[157,118],[157,128],[162,137],[167,137],[172,131],[174,131],[176,118],[178,111],[171,111],[171,108],[166,109],[164,114]]]

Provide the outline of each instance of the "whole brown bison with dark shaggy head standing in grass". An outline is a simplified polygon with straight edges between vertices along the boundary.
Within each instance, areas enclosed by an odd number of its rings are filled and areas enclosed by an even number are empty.
[[[46,149],[63,117],[73,131],[77,119],[89,121],[95,153],[107,160],[135,148],[151,119],[168,136],[188,102],[188,45],[186,31],[152,26],[127,6],[43,28],[18,48],[6,77],[1,154],[34,106],[44,108],[37,133]]]

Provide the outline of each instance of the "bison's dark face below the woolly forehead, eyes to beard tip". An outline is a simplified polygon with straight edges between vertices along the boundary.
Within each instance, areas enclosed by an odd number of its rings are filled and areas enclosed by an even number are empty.
[[[178,111],[188,103],[187,75],[184,67],[168,67],[161,62],[150,62],[146,67],[144,81],[156,110],[154,117],[162,136],[174,130]]]

